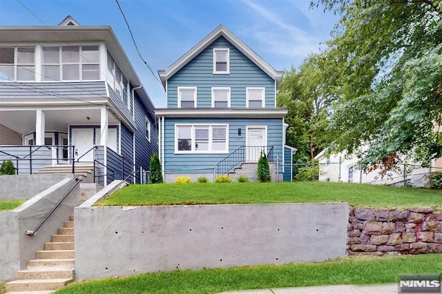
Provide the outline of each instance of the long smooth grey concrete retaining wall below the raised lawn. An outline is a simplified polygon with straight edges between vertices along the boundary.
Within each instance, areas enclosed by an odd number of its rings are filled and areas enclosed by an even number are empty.
[[[177,268],[311,262],[346,254],[349,206],[345,203],[92,204],[75,208],[79,280]]]

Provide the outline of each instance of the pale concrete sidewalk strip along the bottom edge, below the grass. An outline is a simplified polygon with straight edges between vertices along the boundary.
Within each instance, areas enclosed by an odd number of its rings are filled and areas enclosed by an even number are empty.
[[[296,288],[271,288],[244,291],[228,291],[222,294],[390,294],[398,293],[398,284],[383,285],[333,285]]]

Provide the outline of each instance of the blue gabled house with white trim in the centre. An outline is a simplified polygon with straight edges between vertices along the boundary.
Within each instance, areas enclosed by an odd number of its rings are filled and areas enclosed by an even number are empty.
[[[166,182],[182,175],[253,180],[261,152],[273,181],[284,173],[290,179],[287,109],[276,107],[282,71],[220,25],[158,73],[167,96],[167,108],[155,109]]]

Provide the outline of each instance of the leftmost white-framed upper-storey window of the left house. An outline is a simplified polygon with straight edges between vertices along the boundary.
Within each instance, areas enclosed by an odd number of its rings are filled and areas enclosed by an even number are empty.
[[[0,47],[0,80],[35,81],[35,47]]]

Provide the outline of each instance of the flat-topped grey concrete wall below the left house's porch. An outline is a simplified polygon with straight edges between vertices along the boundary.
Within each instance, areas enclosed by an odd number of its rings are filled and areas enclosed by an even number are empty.
[[[0,200],[28,200],[73,175],[1,175]]]

